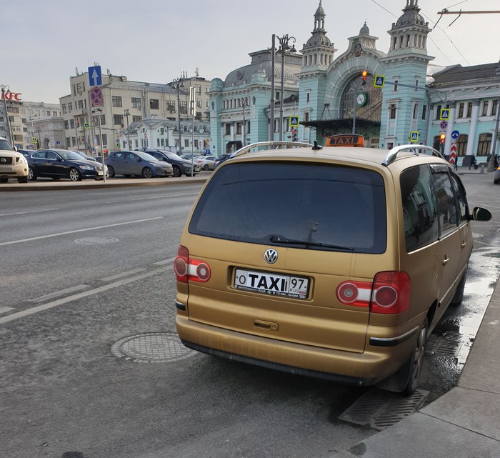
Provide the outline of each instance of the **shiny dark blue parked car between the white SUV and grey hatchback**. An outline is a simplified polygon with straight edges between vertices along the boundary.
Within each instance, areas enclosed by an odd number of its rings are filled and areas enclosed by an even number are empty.
[[[67,149],[41,149],[30,154],[27,159],[28,178],[33,181],[42,176],[69,178],[71,181],[104,177],[102,164],[87,161],[80,154]]]

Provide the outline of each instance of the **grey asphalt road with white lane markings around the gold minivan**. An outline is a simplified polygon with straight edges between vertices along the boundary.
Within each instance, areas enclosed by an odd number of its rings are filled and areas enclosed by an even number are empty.
[[[500,188],[464,181],[496,211],[474,223],[471,287],[446,317],[474,333],[499,272]],[[375,432],[339,420],[366,389],[196,352],[159,363],[111,352],[175,335],[171,265],[200,187],[1,196],[0,457],[327,457]]]

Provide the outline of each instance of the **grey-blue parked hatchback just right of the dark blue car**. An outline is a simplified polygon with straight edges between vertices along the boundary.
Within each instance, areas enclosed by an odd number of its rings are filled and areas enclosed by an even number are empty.
[[[109,176],[172,176],[174,171],[170,164],[159,161],[144,151],[114,151],[104,159],[108,166]]]

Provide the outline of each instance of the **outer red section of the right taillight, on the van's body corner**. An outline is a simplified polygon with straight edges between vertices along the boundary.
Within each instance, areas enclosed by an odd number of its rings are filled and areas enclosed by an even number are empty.
[[[374,279],[371,312],[396,314],[410,308],[411,281],[406,272],[379,272]]]

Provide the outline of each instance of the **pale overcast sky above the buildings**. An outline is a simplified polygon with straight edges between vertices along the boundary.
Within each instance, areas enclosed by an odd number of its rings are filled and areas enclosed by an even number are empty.
[[[69,76],[94,63],[129,80],[169,83],[187,76],[225,79],[250,63],[249,53],[271,36],[311,36],[319,0],[16,0],[3,5],[0,84],[24,101],[59,103]],[[389,50],[391,24],[406,0],[323,0],[327,36],[342,54],[366,23]],[[438,11],[500,10],[499,0],[419,0],[434,28]],[[500,14],[447,14],[429,35],[437,65],[486,64],[500,59]],[[454,24],[451,24],[451,22]]]

